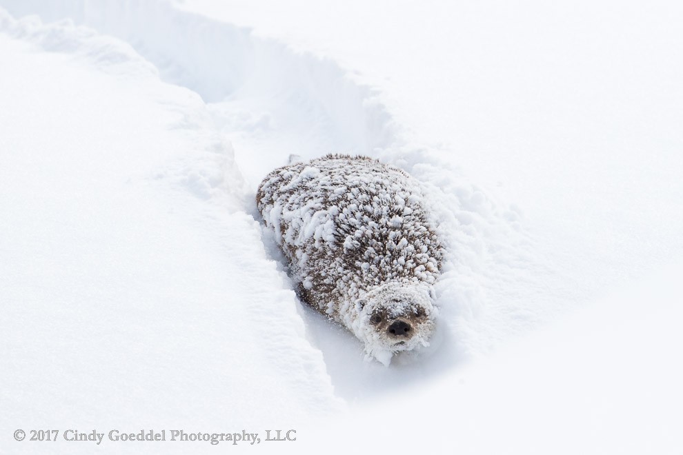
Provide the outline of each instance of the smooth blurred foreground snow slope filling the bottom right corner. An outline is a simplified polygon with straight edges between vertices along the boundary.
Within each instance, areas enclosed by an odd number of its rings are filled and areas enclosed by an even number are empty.
[[[679,453],[680,272],[665,267],[492,356],[362,403],[301,448],[335,438],[335,453]]]

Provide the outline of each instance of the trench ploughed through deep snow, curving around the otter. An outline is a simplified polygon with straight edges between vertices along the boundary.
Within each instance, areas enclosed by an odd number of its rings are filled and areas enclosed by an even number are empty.
[[[300,310],[337,394],[374,394],[452,367],[528,330],[549,311],[546,287],[552,272],[535,254],[521,210],[497,201],[439,159],[455,151],[408,139],[406,128],[382,103],[382,92],[355,81],[335,61],[186,12],[166,0],[2,3],[17,17],[67,18],[117,37],[130,48],[121,43],[108,54],[111,59],[143,61],[139,68],[158,70],[164,81],[199,94],[215,128],[235,148],[218,146],[218,167],[216,159],[206,159],[181,169],[178,178],[201,199],[219,204],[234,200],[233,210],[254,216],[258,176],[286,163],[288,153],[278,144],[287,144],[288,151],[300,152],[304,159],[329,152],[375,156],[422,182],[433,223],[448,247],[437,285],[438,336],[424,356],[397,358],[393,368],[384,369],[363,364],[362,346],[350,334],[306,308]],[[51,48],[49,42],[43,41],[48,50],[68,50],[65,44]],[[274,244],[267,238],[265,243],[268,255],[279,258]]]

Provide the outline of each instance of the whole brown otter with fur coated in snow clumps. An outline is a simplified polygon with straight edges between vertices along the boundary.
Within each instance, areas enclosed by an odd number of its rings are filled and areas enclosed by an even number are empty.
[[[257,205],[301,299],[348,327],[368,357],[386,365],[428,345],[442,246],[415,179],[364,156],[328,155],[270,172]]]

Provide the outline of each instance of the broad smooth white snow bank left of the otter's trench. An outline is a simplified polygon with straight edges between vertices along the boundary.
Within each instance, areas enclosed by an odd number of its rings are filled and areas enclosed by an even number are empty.
[[[21,427],[262,432],[343,410],[201,99],[68,22],[0,10],[0,48],[3,449],[81,449]]]

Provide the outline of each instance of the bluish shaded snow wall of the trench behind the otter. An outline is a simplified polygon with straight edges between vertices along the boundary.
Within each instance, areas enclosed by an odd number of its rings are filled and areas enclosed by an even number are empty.
[[[377,92],[355,83],[334,61],[182,10],[171,1],[6,0],[3,5],[15,16],[69,18],[119,37],[154,63],[166,81],[190,88],[207,102],[238,90],[257,90],[264,97],[286,92],[290,102],[329,117],[328,128],[345,150],[373,150],[393,139],[390,116],[377,102]]]

